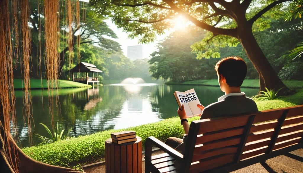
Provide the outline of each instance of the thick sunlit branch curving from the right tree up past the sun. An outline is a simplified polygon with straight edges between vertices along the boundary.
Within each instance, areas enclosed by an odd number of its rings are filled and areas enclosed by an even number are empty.
[[[191,15],[185,13],[180,8],[178,8],[173,2],[171,2],[171,0],[163,0],[163,1],[166,2],[171,7],[171,9],[173,9],[175,12],[183,14],[186,18],[188,18],[189,21],[193,22],[196,26],[202,29],[213,32],[213,34],[216,35],[229,35],[232,37],[237,37],[236,28],[235,29],[216,28],[214,26],[201,22],[198,19],[192,17]]]

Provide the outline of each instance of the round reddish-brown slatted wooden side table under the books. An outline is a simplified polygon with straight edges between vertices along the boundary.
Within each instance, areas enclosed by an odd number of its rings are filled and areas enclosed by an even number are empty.
[[[112,138],[105,141],[106,173],[142,173],[142,138],[124,144],[112,143]]]

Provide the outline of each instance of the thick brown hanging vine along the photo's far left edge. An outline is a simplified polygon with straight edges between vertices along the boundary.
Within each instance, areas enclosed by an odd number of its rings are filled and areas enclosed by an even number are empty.
[[[0,101],[3,112],[3,121],[5,135],[10,136],[12,120],[16,126],[15,114],[15,91],[13,84],[13,61],[12,61],[12,39],[9,18],[8,0],[0,1]],[[11,95],[10,95],[11,94]],[[1,120],[2,121],[2,120]],[[8,138],[4,138],[7,143],[6,154],[8,161],[15,172],[18,172],[17,159],[15,155],[15,145],[10,144]],[[12,147],[12,148],[11,148]]]

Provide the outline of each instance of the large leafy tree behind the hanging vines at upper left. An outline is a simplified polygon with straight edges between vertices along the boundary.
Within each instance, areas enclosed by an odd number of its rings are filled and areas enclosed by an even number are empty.
[[[44,34],[45,34],[45,18],[43,15],[43,3],[39,1],[33,1],[29,0],[30,2],[30,18],[29,22],[30,24],[28,27],[31,28],[32,32],[32,39],[31,39],[31,77],[34,78],[40,78],[41,76],[44,76],[43,74],[40,76],[40,69],[42,68],[42,73],[45,72],[45,67],[42,65],[39,67],[40,64],[43,64],[44,59],[41,58],[42,63],[40,63],[39,57],[43,57],[44,55]],[[88,5],[88,3],[81,2],[80,3],[80,25],[76,24],[75,21],[75,12],[72,12],[73,15],[73,22],[71,24],[71,31],[69,31],[69,21],[68,21],[68,0],[63,0],[60,6],[60,47],[59,47],[59,57],[60,57],[60,69],[65,64],[68,64],[68,53],[69,45],[67,43],[68,41],[68,34],[69,32],[72,33],[72,47],[73,50],[75,49],[77,45],[77,37],[80,37],[79,45],[83,44],[91,44],[98,46],[99,48],[102,48],[105,51],[121,51],[120,45],[118,42],[115,42],[112,40],[112,38],[118,38],[116,34],[108,27],[108,25],[104,22],[104,18],[99,18],[96,16],[95,11],[91,9],[91,7]],[[75,3],[76,1],[72,1]],[[74,4],[72,4],[74,5]],[[74,8],[74,7],[73,7]],[[21,17],[21,13],[20,16]],[[18,23],[18,25],[20,25]],[[20,28],[20,26],[19,26]],[[21,37],[21,35],[20,35]],[[14,43],[16,44],[16,43]],[[19,45],[21,45],[21,38],[19,38]],[[16,51],[16,50],[15,50]],[[77,50],[74,50],[77,52]],[[81,55],[80,55],[81,56]],[[73,53],[72,57],[75,57],[74,59],[78,59],[77,53]],[[81,61],[81,60],[80,60]],[[18,60],[16,61],[18,62]],[[74,61],[75,62],[75,61]],[[19,66],[19,63],[17,63],[17,66]],[[68,66],[68,65],[67,65]],[[18,69],[21,70],[21,69]],[[21,74],[21,72],[19,72]],[[16,77],[19,77],[18,72],[15,74]],[[64,77],[64,76],[62,76]]]

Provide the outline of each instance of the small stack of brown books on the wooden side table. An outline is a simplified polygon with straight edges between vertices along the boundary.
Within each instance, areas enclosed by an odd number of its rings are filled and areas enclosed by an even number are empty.
[[[137,141],[135,131],[120,131],[111,134],[112,142],[115,144],[123,144],[126,142]]]

